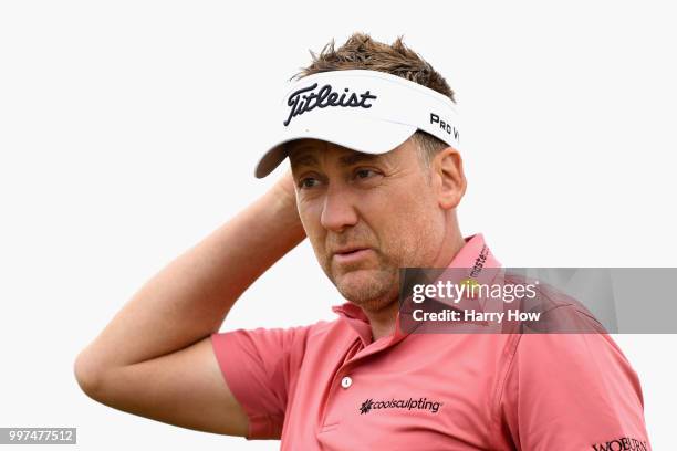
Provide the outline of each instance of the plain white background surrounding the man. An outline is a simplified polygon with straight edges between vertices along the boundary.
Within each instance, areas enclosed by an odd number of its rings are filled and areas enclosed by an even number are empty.
[[[77,427],[84,450],[278,449],[98,405],[72,367],[146,280],[271,186],[280,168],[252,174],[280,86],[354,31],[404,34],[456,91],[461,230],[504,265],[675,266],[675,14],[619,3],[1,2],[0,427]],[[333,318],[341,301],[304,242],[223,329]],[[677,336],[615,338],[654,449],[674,449]]]

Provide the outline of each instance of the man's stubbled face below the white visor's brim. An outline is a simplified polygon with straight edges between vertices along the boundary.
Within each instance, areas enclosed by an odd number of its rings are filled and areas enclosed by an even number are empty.
[[[398,271],[433,266],[445,233],[429,169],[409,139],[368,155],[315,139],[289,150],[303,227],[320,265],[348,301],[397,300]]]

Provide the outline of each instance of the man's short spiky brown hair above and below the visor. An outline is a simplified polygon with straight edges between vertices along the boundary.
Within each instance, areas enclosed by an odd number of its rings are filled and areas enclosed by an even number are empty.
[[[456,103],[454,91],[447,81],[418,53],[406,46],[403,36],[398,36],[393,44],[388,45],[374,41],[366,33],[358,32],[353,33],[338,49],[335,48],[332,39],[319,54],[312,50],[310,53],[313,62],[308,67],[301,67],[301,72],[292,78],[302,78],[327,71],[366,69],[418,83],[446,95]],[[435,154],[448,147],[442,140],[423,130],[417,130],[413,139],[421,150],[420,155],[426,165],[429,165]]]

